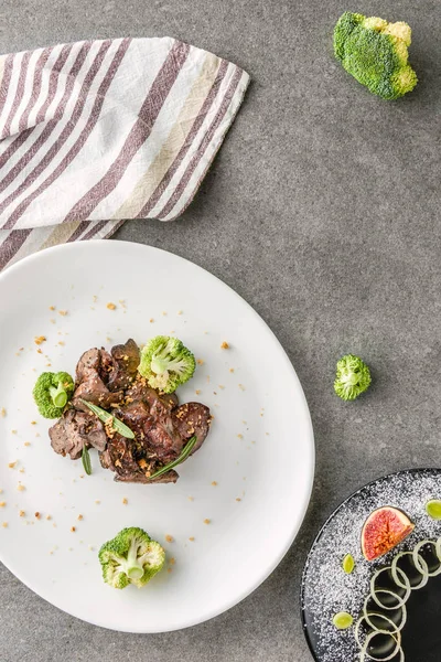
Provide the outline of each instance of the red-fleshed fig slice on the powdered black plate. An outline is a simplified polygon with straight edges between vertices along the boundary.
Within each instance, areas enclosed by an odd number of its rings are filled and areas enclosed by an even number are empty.
[[[415,528],[409,517],[390,505],[370,513],[362,530],[362,552],[366,560],[374,560],[390,552]]]

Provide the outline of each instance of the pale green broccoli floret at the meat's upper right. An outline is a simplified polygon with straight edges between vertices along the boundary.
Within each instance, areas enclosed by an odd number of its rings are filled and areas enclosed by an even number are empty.
[[[193,376],[195,367],[192,352],[178,338],[157,335],[141,350],[138,370],[152,388],[173,393]]]

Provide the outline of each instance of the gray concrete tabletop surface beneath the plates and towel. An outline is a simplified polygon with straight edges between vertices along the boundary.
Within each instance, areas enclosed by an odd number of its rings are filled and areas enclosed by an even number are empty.
[[[346,9],[411,24],[421,83],[408,98],[370,96],[333,60]],[[228,613],[182,632],[118,634],[62,613],[2,568],[0,661],[310,662],[298,594],[320,524],[370,479],[441,465],[439,1],[2,0],[0,14],[1,52],[170,34],[251,74],[184,216],[129,222],[118,238],[194,260],[260,312],[304,386],[318,451],[298,540]],[[375,380],[354,404],[332,392],[347,351]]]

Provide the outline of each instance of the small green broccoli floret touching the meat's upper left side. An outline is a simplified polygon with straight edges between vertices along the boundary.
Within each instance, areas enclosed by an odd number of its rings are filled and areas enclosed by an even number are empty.
[[[74,389],[74,381],[68,373],[42,373],[32,395],[44,418],[60,418]]]

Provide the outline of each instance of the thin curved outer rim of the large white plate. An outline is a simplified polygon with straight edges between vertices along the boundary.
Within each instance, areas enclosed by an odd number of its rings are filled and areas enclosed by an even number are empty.
[[[277,554],[272,560],[272,563],[266,568],[266,572],[262,574],[259,574],[257,580],[252,581],[245,590],[243,590],[240,594],[235,594],[235,596],[233,598],[230,598],[229,600],[226,600],[225,602],[223,602],[218,608],[216,609],[212,609],[209,612],[205,612],[202,617],[197,618],[197,619],[193,619],[191,622],[187,622],[186,624],[178,624],[175,627],[163,627],[163,628],[158,628],[155,627],[153,630],[149,629],[148,627],[144,628],[126,628],[126,627],[120,627],[118,626],[118,628],[114,628],[110,627],[108,624],[105,624],[104,622],[100,622],[99,619],[85,619],[82,618],[80,616],[73,613],[72,611],[67,610],[64,607],[60,607],[57,604],[51,601],[51,599],[45,598],[43,596],[41,596],[39,592],[36,592],[26,581],[24,581],[21,578],[20,573],[15,573],[14,570],[11,569],[11,567],[9,566],[9,564],[4,563],[3,560],[3,555],[1,553],[0,549],[0,562],[8,568],[8,570],[14,576],[17,577],[17,579],[19,579],[19,581],[21,581],[22,584],[24,584],[24,586],[26,586],[28,589],[30,589],[32,592],[34,592],[35,595],[37,595],[41,599],[45,600],[46,602],[49,602],[50,605],[52,605],[53,607],[55,607],[56,609],[60,609],[61,611],[69,615],[73,618],[77,618],[78,620],[83,621],[83,622],[87,622],[90,623],[95,627],[100,627],[110,631],[117,631],[117,632],[129,632],[129,633],[138,633],[138,634],[153,634],[153,633],[161,633],[161,632],[173,632],[173,631],[180,631],[180,630],[184,630],[204,622],[207,622],[214,618],[216,618],[217,616],[220,616],[222,613],[225,613],[226,611],[229,611],[229,609],[232,609],[233,607],[235,607],[236,605],[239,605],[243,600],[245,600],[248,596],[250,596],[255,590],[257,590],[257,588],[259,588],[259,586],[261,586],[267,579],[268,577],[276,570],[276,568],[280,565],[280,563],[282,562],[282,559],[284,558],[284,556],[288,554],[289,549],[291,548],[291,546],[294,544],[295,538],[300,532],[300,528],[304,522],[306,512],[308,512],[308,508],[311,503],[311,496],[312,496],[312,491],[313,491],[313,485],[314,485],[314,478],[315,478],[315,466],[316,466],[316,450],[315,450],[315,439],[314,439],[314,430],[313,430],[313,425],[312,425],[312,418],[311,418],[311,413],[310,413],[310,408],[308,405],[308,401],[306,401],[306,396],[304,394],[302,384],[300,382],[300,378],[295,372],[295,369],[287,353],[287,351],[284,350],[283,345],[281,344],[281,342],[279,341],[279,339],[277,338],[276,333],[272,331],[271,327],[266,322],[266,320],[257,312],[257,310],[255,310],[255,308],[248,303],[248,301],[246,301],[246,299],[244,299],[244,297],[241,297],[233,287],[230,287],[229,285],[227,285],[224,280],[222,280],[220,278],[218,278],[217,276],[215,276],[212,271],[208,271],[207,269],[205,269],[204,267],[197,265],[196,263],[192,261],[191,259],[187,259],[185,257],[182,257],[180,255],[176,255],[175,253],[172,253],[170,250],[164,250],[163,248],[158,248],[157,246],[151,246],[149,244],[140,244],[138,242],[126,242],[126,241],[121,241],[121,239],[89,239],[87,242],[73,242],[73,243],[66,243],[66,244],[60,244],[56,246],[51,246],[49,248],[44,248],[43,250],[39,250],[36,253],[33,253],[31,255],[28,255],[25,257],[23,257],[22,259],[19,259],[17,263],[12,264],[11,266],[7,267],[2,273],[0,273],[0,286],[3,284],[3,281],[11,276],[11,274],[14,274],[17,271],[20,271],[23,268],[26,268],[28,265],[34,263],[34,261],[40,261],[40,260],[44,260],[45,256],[47,254],[53,254],[53,253],[69,253],[69,252],[76,252],[76,250],[83,250],[83,249],[89,249],[89,247],[92,246],[94,249],[98,249],[98,250],[106,250],[107,246],[111,245],[114,248],[115,247],[120,247],[121,250],[135,250],[135,252],[149,252],[152,250],[154,253],[162,253],[162,254],[166,254],[166,255],[171,255],[173,258],[178,259],[178,260],[182,260],[184,263],[186,263],[187,265],[190,265],[192,268],[198,269],[204,273],[205,276],[208,276],[208,278],[215,279],[217,281],[217,284],[219,286],[222,286],[222,288],[225,291],[228,291],[228,293],[232,296],[235,296],[236,298],[238,298],[240,300],[240,302],[248,309],[248,311],[254,316],[254,318],[260,323],[263,324],[263,327],[267,329],[267,331],[270,333],[270,335],[272,337],[276,345],[278,346],[279,351],[281,352],[281,355],[284,357],[284,361],[287,362],[287,367],[289,369],[290,373],[291,373],[291,377],[293,378],[293,382],[297,384],[297,388],[299,392],[299,396],[302,399],[302,408],[304,412],[304,423],[306,425],[306,434],[305,434],[305,441],[306,441],[306,447],[305,447],[305,453],[308,453],[306,457],[306,462],[309,465],[309,476],[306,476],[306,490],[303,496],[303,500],[300,504],[300,517],[299,521],[295,525],[290,527],[290,533],[286,538],[286,544],[283,545],[283,547],[281,547],[279,554]]]

